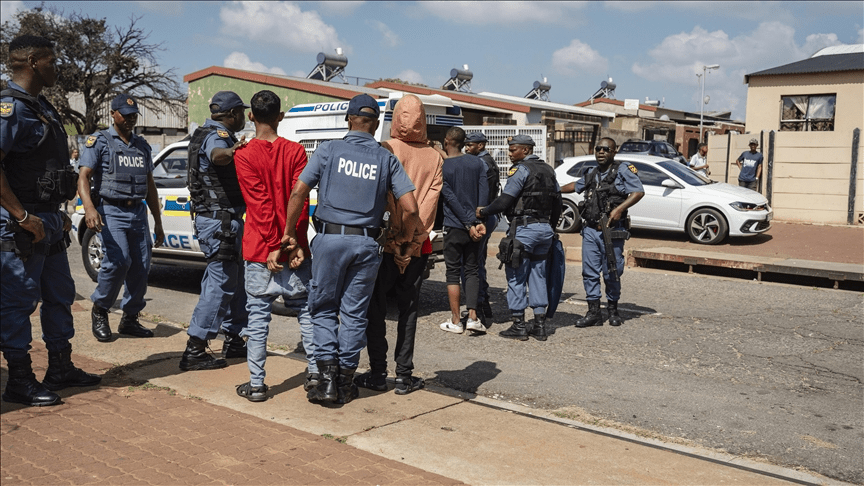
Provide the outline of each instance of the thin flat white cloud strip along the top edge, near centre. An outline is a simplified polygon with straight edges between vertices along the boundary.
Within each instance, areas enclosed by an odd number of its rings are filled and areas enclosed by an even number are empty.
[[[587,2],[417,2],[412,8],[456,24],[530,25],[581,22]]]

